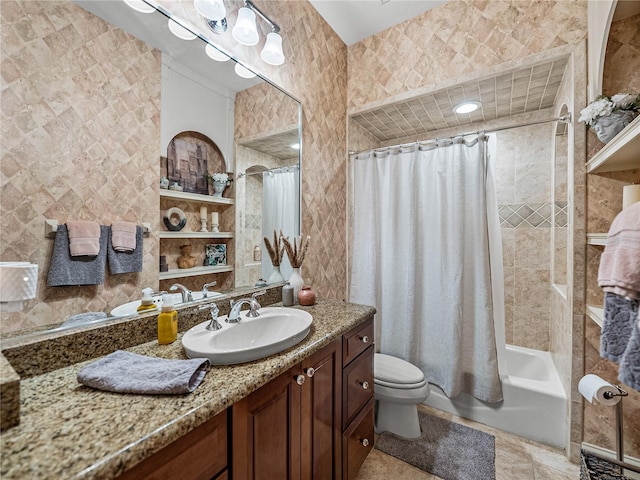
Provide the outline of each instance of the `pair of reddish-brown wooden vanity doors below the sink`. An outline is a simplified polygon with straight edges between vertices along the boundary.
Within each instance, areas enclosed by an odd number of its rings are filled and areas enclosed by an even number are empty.
[[[232,477],[336,479],[341,471],[341,339],[232,407]]]

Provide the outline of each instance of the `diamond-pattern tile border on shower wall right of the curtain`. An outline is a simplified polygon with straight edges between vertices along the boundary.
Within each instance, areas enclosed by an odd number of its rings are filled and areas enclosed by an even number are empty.
[[[554,208],[551,203],[499,205],[502,228],[551,228]],[[555,226],[567,226],[567,202],[555,202]]]

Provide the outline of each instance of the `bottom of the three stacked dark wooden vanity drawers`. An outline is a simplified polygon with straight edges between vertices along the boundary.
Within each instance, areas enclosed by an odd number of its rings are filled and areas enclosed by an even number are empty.
[[[353,421],[342,436],[342,478],[356,477],[362,463],[369,455],[374,443],[373,405],[371,398],[364,410]]]

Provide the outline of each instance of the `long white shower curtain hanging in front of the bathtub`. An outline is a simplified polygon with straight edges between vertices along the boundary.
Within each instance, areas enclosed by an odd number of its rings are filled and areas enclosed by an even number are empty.
[[[351,157],[350,301],[376,307],[382,353],[451,398],[498,402],[504,285],[487,143],[458,137]]]

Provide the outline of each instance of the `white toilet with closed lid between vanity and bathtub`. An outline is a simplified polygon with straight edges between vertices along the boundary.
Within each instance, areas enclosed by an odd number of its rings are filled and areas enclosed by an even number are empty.
[[[375,354],[373,365],[376,433],[391,432],[405,438],[418,438],[417,405],[429,396],[429,384],[424,374],[415,365],[383,353]]]

